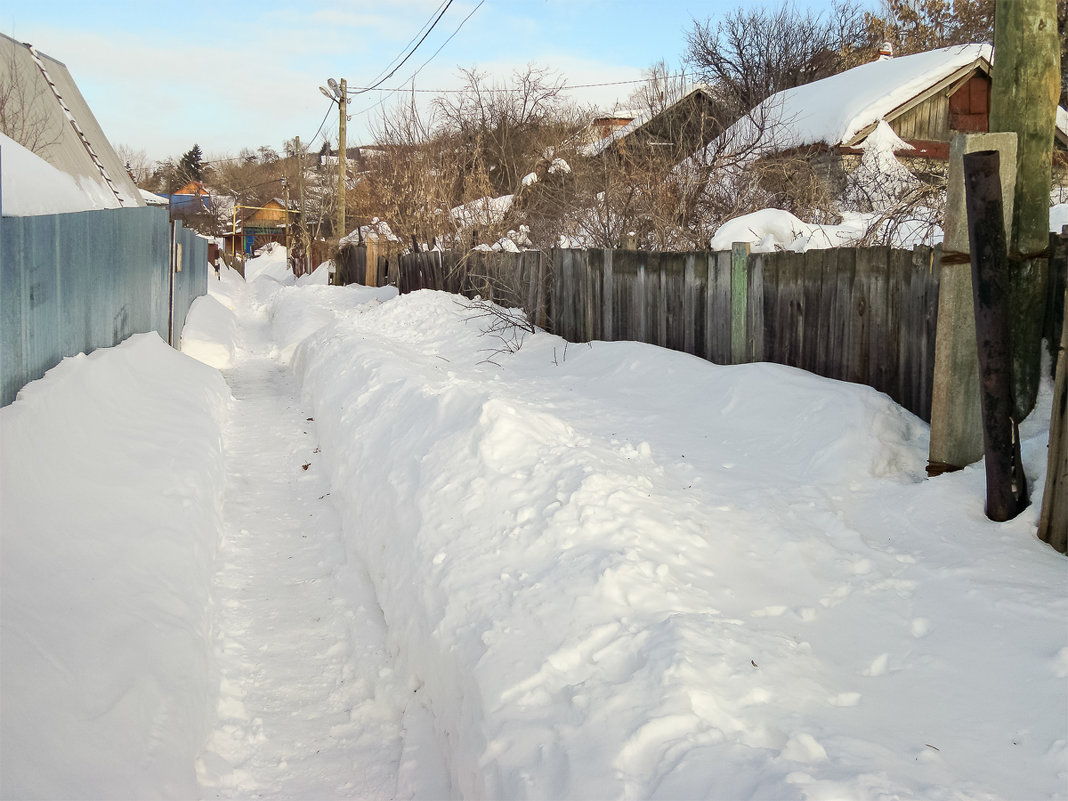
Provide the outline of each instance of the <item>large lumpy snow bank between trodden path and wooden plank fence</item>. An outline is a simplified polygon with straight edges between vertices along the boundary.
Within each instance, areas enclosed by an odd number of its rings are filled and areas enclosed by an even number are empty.
[[[283,343],[333,302],[283,296]],[[471,317],[415,293],[294,358],[454,797],[1063,789],[1037,499],[998,525],[981,469],[924,481],[925,426],[863,387]]]

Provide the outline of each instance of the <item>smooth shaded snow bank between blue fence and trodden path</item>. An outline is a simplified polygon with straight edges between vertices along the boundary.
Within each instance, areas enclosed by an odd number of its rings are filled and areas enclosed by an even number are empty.
[[[152,333],[0,409],[3,798],[197,796],[229,396]]]

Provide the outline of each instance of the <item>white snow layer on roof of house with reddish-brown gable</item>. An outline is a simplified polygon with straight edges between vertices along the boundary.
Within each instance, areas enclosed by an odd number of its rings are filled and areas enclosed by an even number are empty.
[[[765,151],[818,142],[853,145],[867,128],[923,92],[977,62],[989,70],[991,58],[990,45],[955,45],[861,64],[772,95],[731,126],[726,137],[752,142],[763,121]]]

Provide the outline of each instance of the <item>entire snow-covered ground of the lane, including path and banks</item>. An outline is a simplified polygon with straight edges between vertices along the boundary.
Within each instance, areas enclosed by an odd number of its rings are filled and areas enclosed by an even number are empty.
[[[4,798],[1068,796],[1048,392],[995,524],[869,389],[282,258],[0,410]]]

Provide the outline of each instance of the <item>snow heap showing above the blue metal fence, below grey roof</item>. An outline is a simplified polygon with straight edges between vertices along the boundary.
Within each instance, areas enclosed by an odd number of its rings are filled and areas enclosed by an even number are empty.
[[[0,191],[4,217],[119,207],[114,193],[103,180],[79,182],[3,134],[0,134]]]

